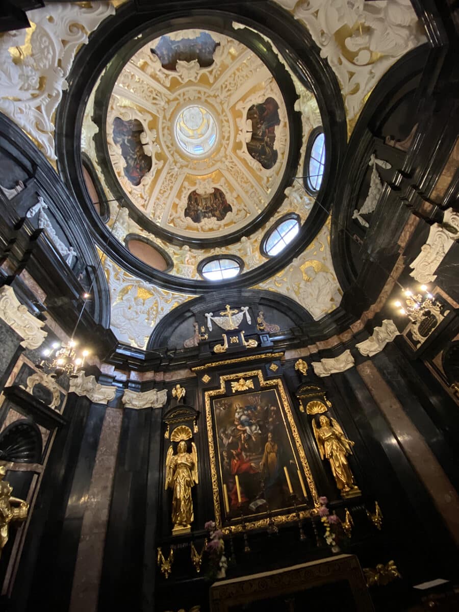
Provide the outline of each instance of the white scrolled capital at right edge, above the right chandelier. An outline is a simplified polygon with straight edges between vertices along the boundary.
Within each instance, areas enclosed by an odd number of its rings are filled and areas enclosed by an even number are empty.
[[[455,241],[459,240],[459,213],[448,209],[442,223],[430,227],[427,242],[422,245],[419,255],[409,267],[410,276],[427,285],[436,279],[435,271]]]

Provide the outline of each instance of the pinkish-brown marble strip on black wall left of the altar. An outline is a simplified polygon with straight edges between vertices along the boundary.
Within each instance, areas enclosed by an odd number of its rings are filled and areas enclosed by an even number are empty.
[[[73,575],[69,612],[96,612],[122,410],[107,408],[95,456]]]

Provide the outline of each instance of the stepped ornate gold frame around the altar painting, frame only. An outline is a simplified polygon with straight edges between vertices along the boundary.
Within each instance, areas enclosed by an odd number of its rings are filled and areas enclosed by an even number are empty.
[[[209,436],[209,455],[211,458],[211,477],[212,477],[212,493],[214,494],[214,509],[215,509],[215,523],[222,526],[222,511],[220,508],[220,491],[218,490],[218,473],[217,473],[217,458],[215,456],[215,441],[214,441],[214,430],[212,422],[212,398],[218,397],[218,395],[226,395],[226,381],[239,380],[241,378],[248,378],[249,376],[256,376],[259,381],[260,389],[277,389],[280,398],[282,399],[283,409],[285,416],[287,417],[291,433],[293,435],[294,443],[296,446],[297,453],[300,458],[300,462],[308,483],[309,490],[312,494],[313,502],[315,507],[319,506],[319,498],[316,490],[316,485],[312,477],[311,470],[304,452],[302,442],[293,419],[293,414],[290,409],[287,394],[285,392],[282,380],[280,378],[270,378],[265,381],[263,372],[261,370],[252,370],[248,372],[237,372],[235,374],[226,374],[220,376],[220,389],[212,389],[204,392],[204,398],[206,402],[206,423],[207,423],[207,435]],[[299,515],[301,519],[307,518],[310,515],[315,514],[315,510],[300,510]],[[295,513],[288,513],[284,515],[272,516],[277,524],[290,523],[297,520]],[[268,517],[260,520],[250,521],[247,520],[245,523],[246,529],[262,529],[268,526]],[[229,527],[223,527],[223,533],[227,534],[231,531],[238,532],[242,531],[242,524],[234,524]]]

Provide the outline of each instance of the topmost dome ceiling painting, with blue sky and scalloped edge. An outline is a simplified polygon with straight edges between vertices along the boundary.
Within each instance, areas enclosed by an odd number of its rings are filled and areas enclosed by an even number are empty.
[[[177,61],[192,62],[196,59],[201,68],[207,68],[214,63],[214,52],[219,45],[208,32],[200,32],[193,39],[172,40],[169,36],[162,36],[151,52],[159,57],[165,70],[176,70]]]

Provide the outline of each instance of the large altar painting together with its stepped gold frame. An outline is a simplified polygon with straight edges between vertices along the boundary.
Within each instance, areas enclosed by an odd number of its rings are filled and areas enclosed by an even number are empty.
[[[220,388],[205,391],[204,400],[215,522],[223,532],[242,530],[236,474],[246,529],[266,528],[269,520],[276,524],[296,520],[290,486],[297,495],[300,518],[310,516],[319,505],[318,494],[282,379],[265,380],[261,370],[223,375]],[[275,450],[271,460],[267,450]],[[260,482],[263,491],[257,494]]]

